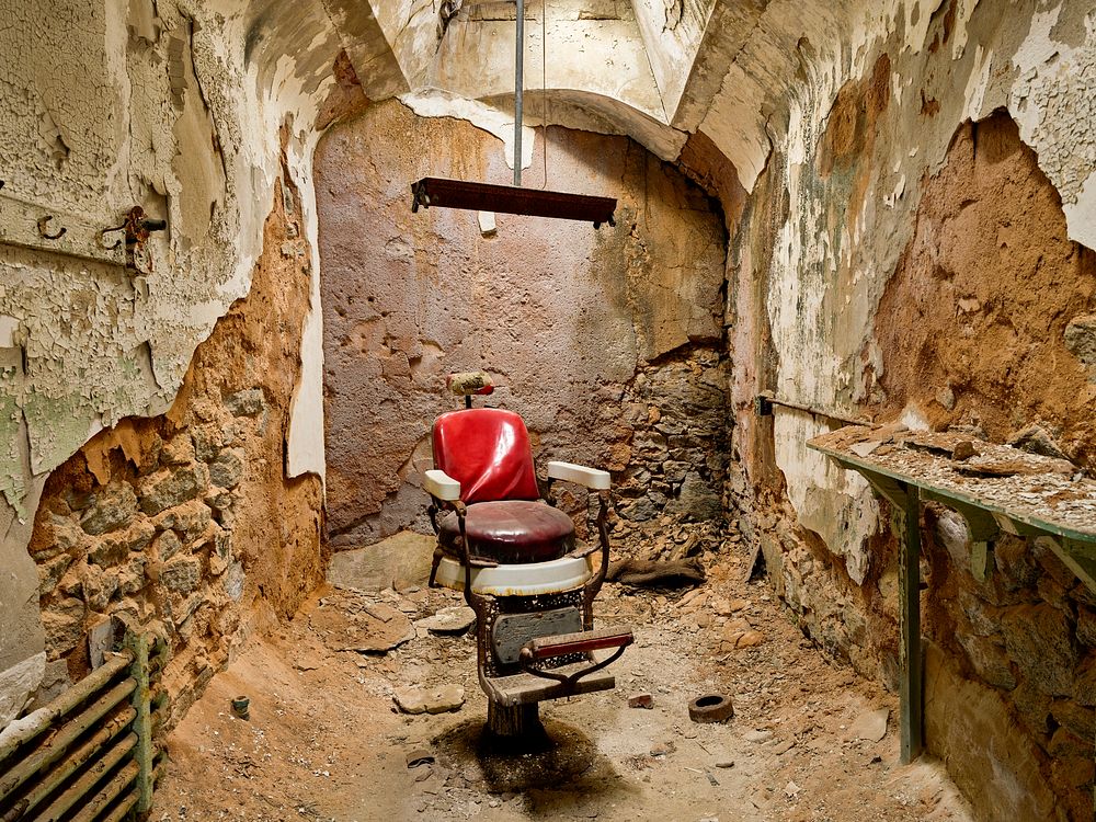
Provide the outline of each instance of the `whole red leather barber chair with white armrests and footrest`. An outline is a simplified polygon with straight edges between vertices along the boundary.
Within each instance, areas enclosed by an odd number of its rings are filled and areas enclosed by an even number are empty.
[[[458,374],[446,384],[465,409],[434,422],[434,468],[423,483],[437,535],[430,584],[461,591],[476,612],[488,729],[535,734],[541,701],[613,688],[603,669],[632,642],[630,629],[594,629],[609,558],[609,475],[548,463],[541,494],[522,418],[471,407],[472,396],[493,391],[490,378]],[[600,546],[576,543],[571,517],[551,504],[555,481],[596,494]]]

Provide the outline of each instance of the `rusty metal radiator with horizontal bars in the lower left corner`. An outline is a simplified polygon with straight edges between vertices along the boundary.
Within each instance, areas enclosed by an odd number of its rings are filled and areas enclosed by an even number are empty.
[[[152,807],[167,646],[127,633],[88,676],[0,737],[0,822],[121,822]]]

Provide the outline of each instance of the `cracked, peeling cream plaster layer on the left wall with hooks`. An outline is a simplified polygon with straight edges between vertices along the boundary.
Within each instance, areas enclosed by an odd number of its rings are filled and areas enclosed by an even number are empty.
[[[171,404],[195,346],[249,290],[283,141],[315,240],[315,121],[341,41],[318,0],[289,7],[0,4],[0,601],[22,604],[4,608],[0,682],[23,672],[0,686],[0,724],[35,687],[21,660],[43,651],[25,549],[43,482],[98,431]],[[135,204],[169,224],[138,269],[94,246]],[[45,215],[67,237],[35,233]],[[313,351],[300,418],[320,408]],[[322,473],[322,439],[307,439],[319,419],[293,427],[294,472]]]

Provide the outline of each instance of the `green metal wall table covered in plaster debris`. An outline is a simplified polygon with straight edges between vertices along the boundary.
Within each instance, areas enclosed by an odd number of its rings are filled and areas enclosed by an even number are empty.
[[[1062,562],[1096,592],[1096,480],[1080,476],[1064,460],[961,434],[848,426],[807,445],[861,475],[893,506],[899,535],[901,755],[909,763],[924,747],[921,503],[940,503],[967,521],[971,572],[979,581],[993,572],[993,544],[1004,532],[1047,537]],[[960,454],[966,458],[956,458]]]

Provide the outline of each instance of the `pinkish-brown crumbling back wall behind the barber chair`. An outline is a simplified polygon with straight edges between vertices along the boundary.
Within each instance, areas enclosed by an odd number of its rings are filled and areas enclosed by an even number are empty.
[[[397,101],[318,147],[334,550],[429,533],[430,425],[460,406],[445,374],[475,368],[496,383],[477,404],[520,412],[539,463],[618,473],[623,518],[722,520],[718,206],[626,138],[551,128],[548,139],[550,187],[616,196],[615,227],[498,215],[484,236],[473,212],[412,214],[421,176],[498,182],[510,170],[490,134]],[[537,132],[527,186],[540,184],[543,151]]]

